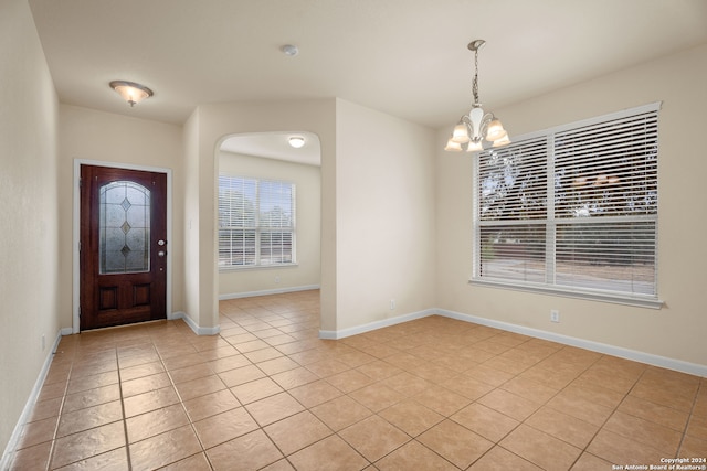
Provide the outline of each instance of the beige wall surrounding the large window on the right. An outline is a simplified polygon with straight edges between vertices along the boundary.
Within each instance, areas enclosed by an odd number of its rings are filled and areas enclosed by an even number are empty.
[[[468,156],[437,151],[437,306],[455,312],[707,365],[707,220],[699,137],[707,109],[707,46],[495,109],[519,136],[663,101],[659,111],[658,295],[661,310],[468,285],[472,167]],[[449,129],[437,135],[442,149]],[[550,309],[561,322],[550,323]]]

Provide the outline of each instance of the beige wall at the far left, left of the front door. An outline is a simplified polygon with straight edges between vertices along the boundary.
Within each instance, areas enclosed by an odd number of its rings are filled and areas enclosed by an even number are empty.
[[[61,249],[57,109],[27,1],[2,1],[0,450],[6,449],[63,327],[56,315]]]

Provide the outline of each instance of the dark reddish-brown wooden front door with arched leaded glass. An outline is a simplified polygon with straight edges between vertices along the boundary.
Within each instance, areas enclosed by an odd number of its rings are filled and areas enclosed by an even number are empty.
[[[167,174],[81,165],[81,330],[167,317]]]

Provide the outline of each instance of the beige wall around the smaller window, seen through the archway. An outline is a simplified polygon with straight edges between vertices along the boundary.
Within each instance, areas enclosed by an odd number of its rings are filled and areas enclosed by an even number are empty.
[[[219,153],[219,173],[288,181],[295,184],[297,265],[293,267],[239,268],[219,271],[219,297],[318,286],[321,258],[319,167],[276,159]]]

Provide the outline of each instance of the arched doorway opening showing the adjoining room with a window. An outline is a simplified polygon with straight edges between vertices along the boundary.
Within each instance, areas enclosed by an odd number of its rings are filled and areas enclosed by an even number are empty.
[[[292,146],[292,138],[302,138],[304,144]],[[321,150],[317,135],[238,133],[225,137],[217,152],[219,300],[318,289]]]

